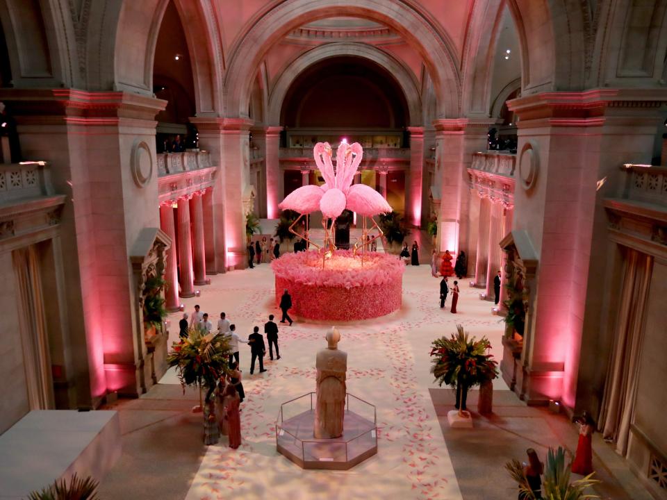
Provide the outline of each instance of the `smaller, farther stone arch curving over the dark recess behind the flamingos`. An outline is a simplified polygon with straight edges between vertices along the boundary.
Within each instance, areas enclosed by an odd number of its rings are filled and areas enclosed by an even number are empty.
[[[292,83],[304,70],[322,60],[338,56],[354,56],[368,59],[383,67],[394,76],[405,95],[410,114],[409,124],[421,124],[421,99],[417,88],[417,78],[409,68],[388,53],[371,45],[354,42],[336,42],[315,47],[293,60],[278,76],[270,93],[268,124],[279,125],[280,110]]]

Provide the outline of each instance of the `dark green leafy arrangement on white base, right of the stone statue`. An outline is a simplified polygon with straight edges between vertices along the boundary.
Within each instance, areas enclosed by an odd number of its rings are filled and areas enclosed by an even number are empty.
[[[457,381],[468,387],[493,380],[498,376],[497,363],[493,355],[486,351],[491,343],[486,337],[481,340],[469,338],[463,326],[456,325],[456,334],[450,338],[441,337],[431,344],[431,357],[434,374],[438,385],[456,387]]]

